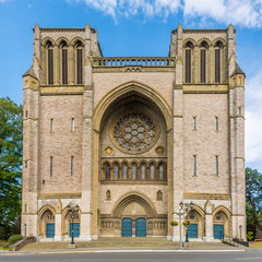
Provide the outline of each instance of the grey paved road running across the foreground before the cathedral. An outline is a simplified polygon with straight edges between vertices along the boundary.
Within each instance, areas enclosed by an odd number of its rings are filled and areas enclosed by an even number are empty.
[[[262,262],[262,252],[0,254],[0,262]]]

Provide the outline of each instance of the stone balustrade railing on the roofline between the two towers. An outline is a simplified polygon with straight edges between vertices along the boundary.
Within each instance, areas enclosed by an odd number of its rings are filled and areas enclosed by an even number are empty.
[[[93,58],[94,67],[175,67],[172,57],[103,57]]]

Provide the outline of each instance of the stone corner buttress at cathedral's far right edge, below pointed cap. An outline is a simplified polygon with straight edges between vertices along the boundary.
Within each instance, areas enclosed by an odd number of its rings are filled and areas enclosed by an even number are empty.
[[[240,237],[241,225],[243,228],[241,237],[246,239],[243,106],[245,75],[235,74],[229,80],[231,237]]]

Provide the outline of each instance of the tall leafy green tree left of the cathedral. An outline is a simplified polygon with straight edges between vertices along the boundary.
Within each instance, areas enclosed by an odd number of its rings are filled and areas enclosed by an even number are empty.
[[[20,233],[23,107],[0,98],[0,238]]]

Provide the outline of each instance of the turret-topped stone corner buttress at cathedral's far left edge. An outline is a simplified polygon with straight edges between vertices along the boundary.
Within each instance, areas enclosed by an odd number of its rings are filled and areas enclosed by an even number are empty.
[[[31,69],[24,74],[24,135],[23,135],[23,189],[22,233],[37,237],[38,180],[38,129],[39,129],[39,81]],[[26,116],[27,115],[27,116]]]

